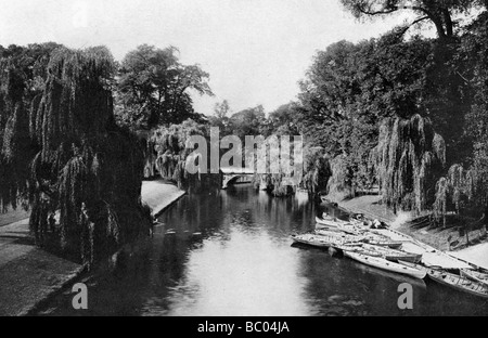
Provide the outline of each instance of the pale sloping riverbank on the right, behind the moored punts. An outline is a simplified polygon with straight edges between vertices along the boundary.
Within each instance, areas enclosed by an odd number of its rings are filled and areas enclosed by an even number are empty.
[[[363,213],[369,219],[378,219],[390,224],[390,229],[412,237],[420,243],[428,245],[437,250],[448,252],[465,262],[488,269],[488,243],[484,229],[471,230],[467,233],[460,232],[455,227],[412,226],[408,223],[412,214],[399,212],[395,214],[381,203],[380,195],[364,195],[344,200],[331,200],[338,207],[354,213]]]

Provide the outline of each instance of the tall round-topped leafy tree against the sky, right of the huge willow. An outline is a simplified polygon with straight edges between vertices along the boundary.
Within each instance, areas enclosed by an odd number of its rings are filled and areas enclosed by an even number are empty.
[[[152,129],[198,119],[190,91],[213,95],[208,74],[198,65],[182,65],[174,47],[142,44],[127,53],[119,68],[116,116],[119,123]]]

